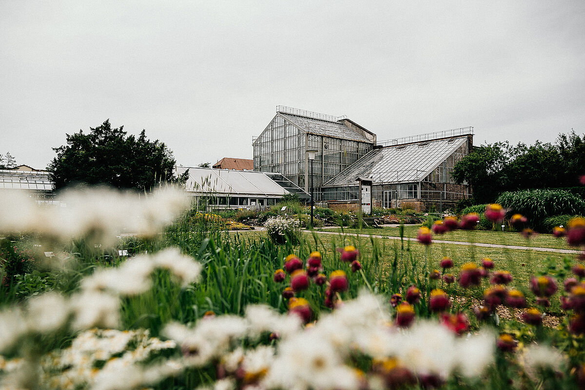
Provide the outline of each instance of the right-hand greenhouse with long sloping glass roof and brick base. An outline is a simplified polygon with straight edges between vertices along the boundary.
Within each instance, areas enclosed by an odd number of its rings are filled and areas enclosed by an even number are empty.
[[[409,208],[419,211],[453,208],[460,199],[471,196],[469,185],[456,184],[452,172],[455,164],[469,154],[472,144],[473,127],[464,127],[377,146],[326,182],[322,199],[357,202],[357,179],[361,178],[373,182],[374,206],[399,208],[409,203]]]

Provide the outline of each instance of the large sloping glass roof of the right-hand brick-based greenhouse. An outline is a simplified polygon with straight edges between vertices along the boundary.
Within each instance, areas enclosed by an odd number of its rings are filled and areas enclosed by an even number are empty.
[[[457,137],[374,149],[324,187],[357,185],[358,177],[374,184],[421,181],[466,140],[467,137]]]

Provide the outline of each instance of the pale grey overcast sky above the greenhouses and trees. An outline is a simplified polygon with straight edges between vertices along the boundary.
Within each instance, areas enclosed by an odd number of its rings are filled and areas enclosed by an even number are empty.
[[[44,168],[110,119],[178,164],[252,158],[277,105],[378,140],[585,132],[585,2],[0,2],[0,153]]]

